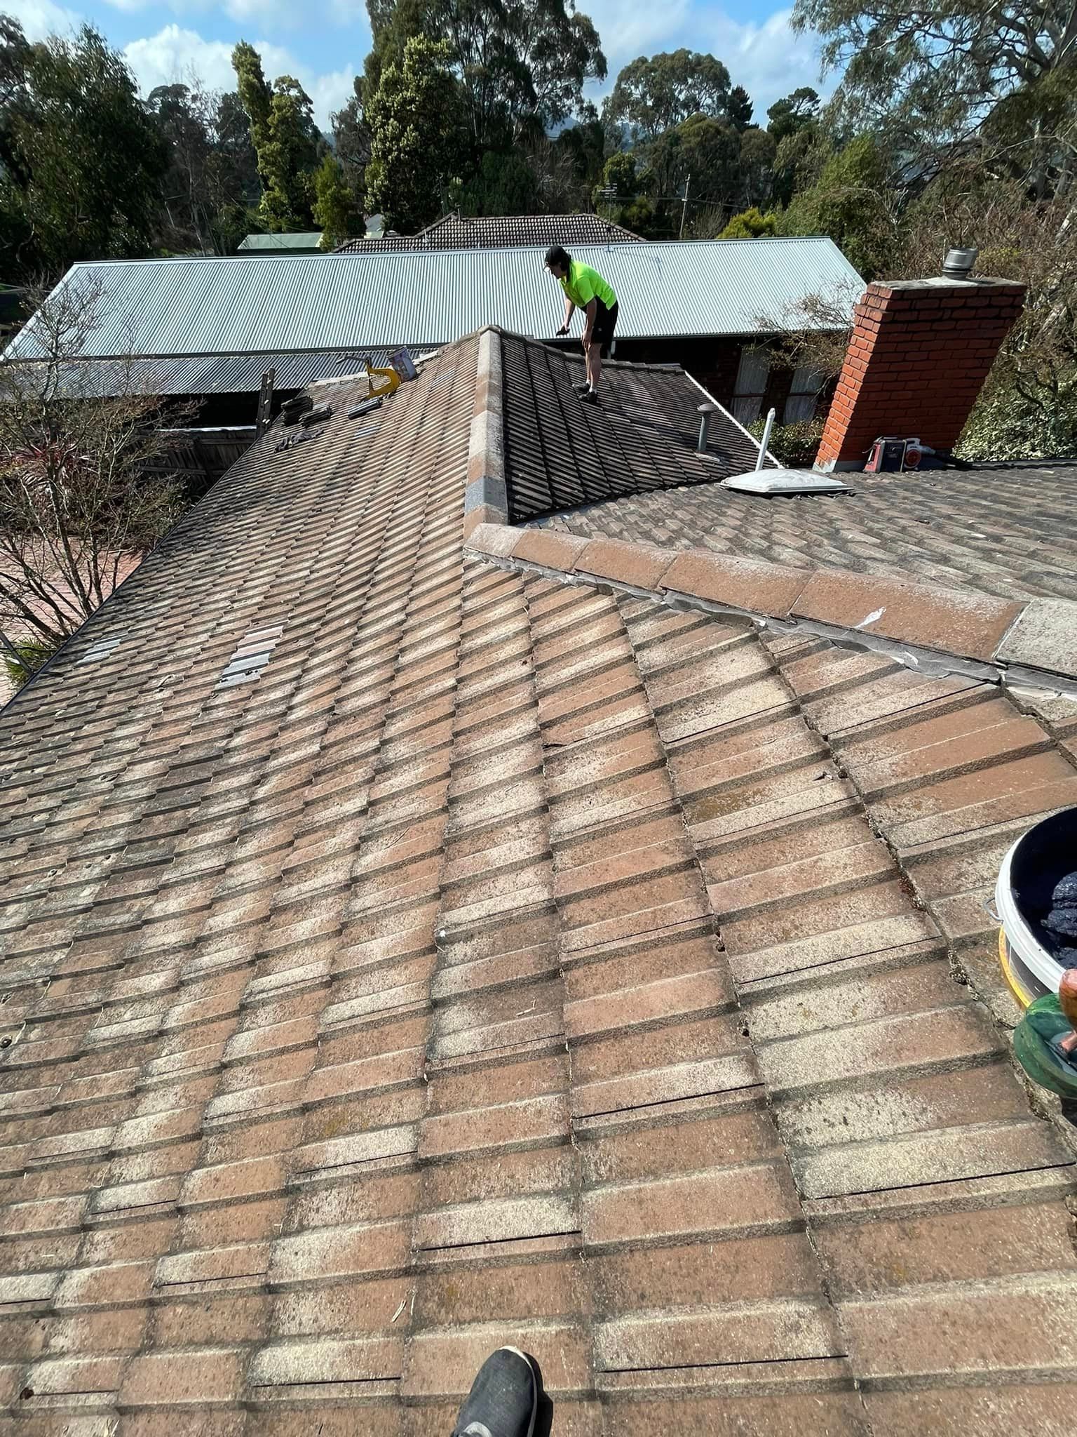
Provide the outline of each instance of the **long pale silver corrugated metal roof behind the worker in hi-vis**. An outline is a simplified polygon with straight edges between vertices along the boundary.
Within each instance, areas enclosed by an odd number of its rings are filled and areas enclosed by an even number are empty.
[[[617,335],[744,335],[803,328],[796,306],[826,295],[849,309],[860,276],[829,239],[695,240],[577,247],[620,300]],[[448,343],[484,325],[550,336],[561,292],[541,247],[76,264],[99,280],[83,354],[240,355]],[[763,320],[763,323],[761,323]],[[32,358],[33,322],[9,352]]]

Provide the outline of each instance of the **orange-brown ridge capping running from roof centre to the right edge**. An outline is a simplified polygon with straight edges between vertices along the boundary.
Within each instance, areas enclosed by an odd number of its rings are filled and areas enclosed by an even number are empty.
[[[794,569],[711,549],[584,539],[488,519],[465,522],[465,549],[570,583],[889,654],[918,673],[1007,680],[1077,698],[1077,602],[1070,599],[999,599],[887,575]]]

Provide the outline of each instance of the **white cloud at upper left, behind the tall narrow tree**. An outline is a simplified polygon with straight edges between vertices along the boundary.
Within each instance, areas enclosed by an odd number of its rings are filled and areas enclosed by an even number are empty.
[[[277,75],[294,75],[314,102],[314,119],[329,128],[329,114],[340,109],[352,93],[355,66],[316,75],[296,56],[280,45],[266,40],[251,40],[261,56],[261,65],[269,80]],[[167,24],[157,34],[144,40],[132,40],[123,50],[128,65],[144,95],[155,85],[171,85],[194,70],[210,89],[236,89],[236,72],[231,68],[231,45],[224,40],[205,40],[197,30],[184,30],[178,24]]]

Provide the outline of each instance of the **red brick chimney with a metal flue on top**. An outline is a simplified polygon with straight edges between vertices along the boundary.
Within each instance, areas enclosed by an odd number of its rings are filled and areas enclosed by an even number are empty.
[[[885,434],[952,450],[1024,295],[1004,279],[869,285],[816,467],[863,468]]]

